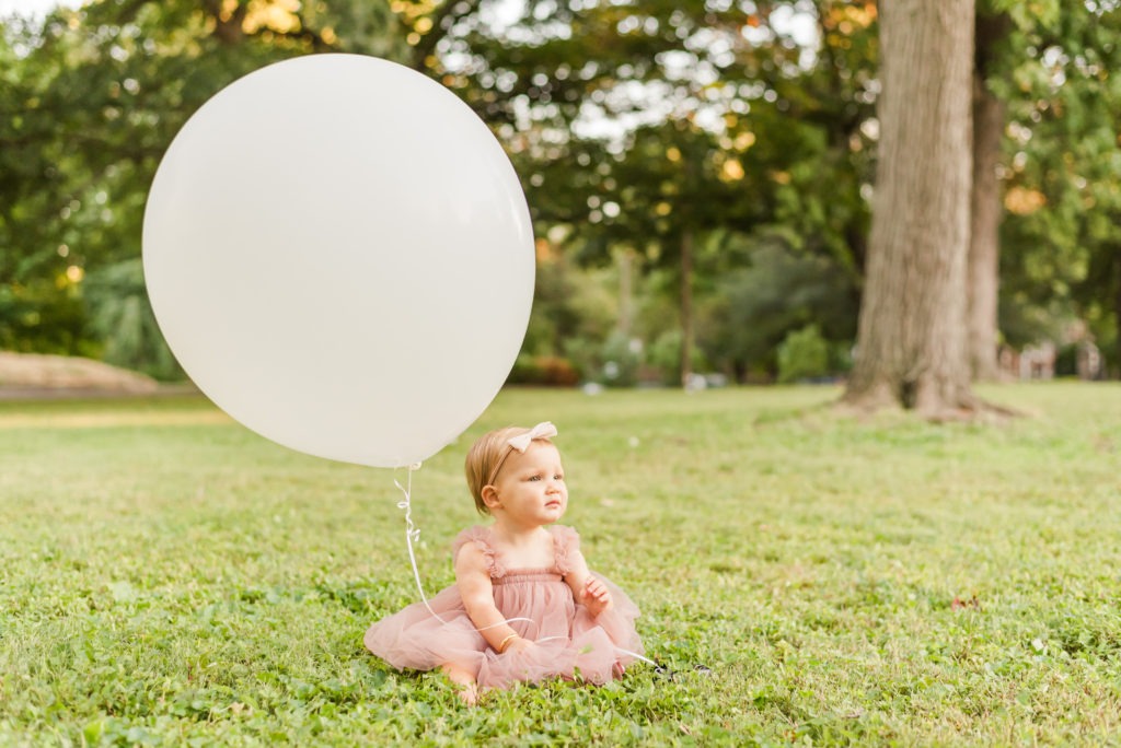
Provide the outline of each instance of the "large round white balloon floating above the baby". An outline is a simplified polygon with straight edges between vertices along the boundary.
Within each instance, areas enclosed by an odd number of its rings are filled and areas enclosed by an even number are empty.
[[[407,67],[314,55],[206,102],[143,217],[156,318],[230,415],[294,449],[409,465],[487,408],[534,293],[498,141]]]

